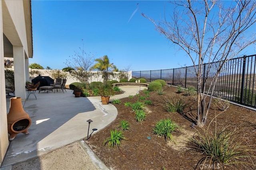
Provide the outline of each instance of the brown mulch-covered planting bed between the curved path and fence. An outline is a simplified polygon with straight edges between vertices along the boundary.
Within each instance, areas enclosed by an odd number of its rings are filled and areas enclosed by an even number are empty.
[[[135,120],[134,112],[131,107],[125,107],[125,102],[135,103],[140,100],[140,96],[145,96],[144,92],[140,92],[134,98],[123,98],[121,104],[114,104],[118,110],[118,116],[108,127],[92,135],[90,140],[86,141],[94,150],[98,157],[112,170],[190,170],[198,169],[196,166],[202,158],[199,152],[188,149],[188,138],[192,137],[199,127],[192,128],[191,125],[196,117],[196,100],[193,96],[184,96],[184,93],[177,94],[176,87],[165,87],[164,94],[158,95],[156,92],[150,92],[150,97],[145,100],[151,100],[152,105],[146,107],[146,120],[138,123]],[[170,98],[184,97],[188,104],[183,114],[169,113],[161,106],[161,103]],[[212,104],[208,120],[205,127],[214,119],[221,111]],[[156,122],[161,119],[169,118],[174,121],[179,128],[175,130],[175,143],[166,141],[164,137],[158,137],[153,133],[152,128]],[[126,120],[130,123],[130,130],[123,131],[126,140],[122,141],[120,147],[108,147],[103,145],[104,140],[110,136],[110,129],[118,129],[120,121]],[[243,133],[235,142],[246,139],[249,145],[256,144],[256,112],[251,109],[239,107],[230,104],[227,111],[224,111],[212,121],[210,129],[212,131],[225,126],[238,127]],[[151,139],[148,139],[150,137]],[[253,147],[253,149],[256,149]],[[256,155],[255,153],[253,153]],[[246,160],[250,163],[256,163],[256,159]],[[202,166],[201,166],[202,167]],[[218,167],[214,167],[218,169]],[[223,166],[223,169],[256,169],[252,164],[246,165],[230,165]]]

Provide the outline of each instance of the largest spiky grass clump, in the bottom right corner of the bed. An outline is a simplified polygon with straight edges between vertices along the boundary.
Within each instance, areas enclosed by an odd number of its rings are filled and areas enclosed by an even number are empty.
[[[250,164],[253,149],[244,138],[238,127],[226,126],[212,131],[202,128],[192,138],[189,138],[188,148],[203,156],[198,164],[216,165],[220,167],[230,164]],[[246,145],[247,144],[247,145]]]

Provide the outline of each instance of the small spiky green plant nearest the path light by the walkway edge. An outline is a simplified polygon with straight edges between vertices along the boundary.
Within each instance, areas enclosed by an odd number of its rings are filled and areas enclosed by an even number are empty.
[[[121,140],[125,140],[124,134],[122,131],[118,130],[111,130],[110,129],[110,137],[108,137],[103,145],[106,145],[108,143],[108,147],[114,147],[114,145],[120,146]]]

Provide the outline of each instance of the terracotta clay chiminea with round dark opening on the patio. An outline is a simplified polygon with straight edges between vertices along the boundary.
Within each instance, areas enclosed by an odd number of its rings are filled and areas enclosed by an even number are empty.
[[[28,127],[31,125],[31,119],[22,107],[21,98],[10,98],[10,110],[7,114],[9,141],[12,141],[18,133],[28,135]]]

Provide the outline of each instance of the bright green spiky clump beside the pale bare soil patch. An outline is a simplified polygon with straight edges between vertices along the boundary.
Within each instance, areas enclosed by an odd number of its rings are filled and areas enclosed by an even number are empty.
[[[154,127],[153,131],[154,134],[158,136],[164,136],[164,139],[170,139],[170,141],[174,141],[172,132],[178,127],[173,121],[170,119],[162,119],[156,122],[156,126]]]

